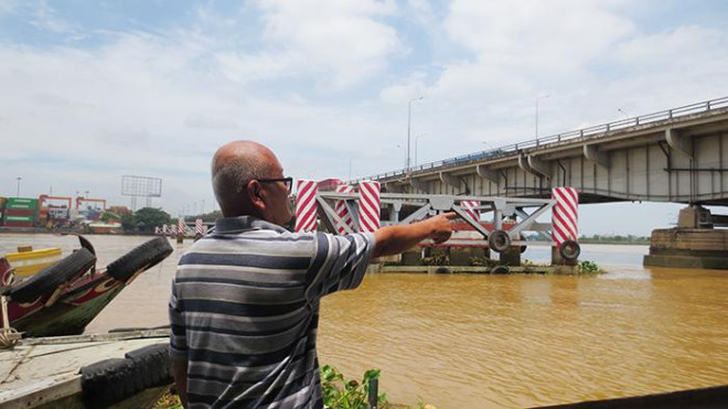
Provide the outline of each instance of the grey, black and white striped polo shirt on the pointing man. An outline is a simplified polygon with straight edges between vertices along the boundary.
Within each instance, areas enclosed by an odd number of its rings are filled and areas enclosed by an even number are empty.
[[[292,234],[218,219],[172,282],[170,354],[188,362],[190,408],[321,408],[321,297],[356,288],[373,234]]]

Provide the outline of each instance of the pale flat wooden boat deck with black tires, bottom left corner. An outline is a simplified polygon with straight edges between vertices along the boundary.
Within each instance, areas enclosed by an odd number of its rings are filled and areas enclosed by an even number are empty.
[[[0,351],[2,408],[144,408],[172,384],[169,329],[22,340]]]

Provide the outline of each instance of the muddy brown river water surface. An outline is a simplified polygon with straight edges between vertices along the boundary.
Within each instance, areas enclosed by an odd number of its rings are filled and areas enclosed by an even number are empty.
[[[144,237],[88,236],[98,266]],[[74,237],[0,234],[17,245]],[[184,245],[141,275],[87,327],[167,323]],[[368,275],[322,301],[319,357],[347,377],[381,368],[389,400],[520,408],[728,385],[728,271],[643,268],[646,246],[584,245],[596,277]],[[547,249],[525,257],[547,261]]]

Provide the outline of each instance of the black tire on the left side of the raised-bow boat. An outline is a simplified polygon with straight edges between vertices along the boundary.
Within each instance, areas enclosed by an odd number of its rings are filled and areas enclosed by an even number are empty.
[[[64,282],[72,281],[96,263],[96,256],[85,248],[66,256],[55,265],[45,267],[32,277],[10,287],[8,294],[13,301],[31,302],[54,291]]]

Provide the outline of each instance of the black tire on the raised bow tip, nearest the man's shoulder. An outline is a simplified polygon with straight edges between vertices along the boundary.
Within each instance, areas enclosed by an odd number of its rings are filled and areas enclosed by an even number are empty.
[[[106,272],[119,281],[127,281],[136,273],[157,266],[172,251],[172,246],[167,237],[157,237],[135,247],[106,266]]]

